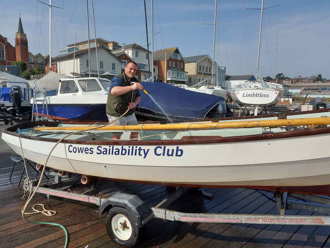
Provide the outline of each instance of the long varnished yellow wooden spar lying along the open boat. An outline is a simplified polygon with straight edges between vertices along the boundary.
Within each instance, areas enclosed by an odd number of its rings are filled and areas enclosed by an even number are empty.
[[[94,131],[154,131],[154,130],[192,130],[192,129],[223,129],[223,128],[256,128],[256,127],[282,127],[282,126],[312,126],[330,125],[330,117],[283,119],[283,120],[251,120],[212,123],[180,123],[180,124],[150,124],[129,126],[106,126]],[[91,126],[71,127],[35,127],[35,131],[85,131]]]

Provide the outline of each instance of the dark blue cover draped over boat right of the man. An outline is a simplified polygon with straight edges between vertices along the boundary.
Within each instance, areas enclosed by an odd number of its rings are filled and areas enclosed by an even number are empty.
[[[164,82],[142,82],[142,85],[149,96],[140,91],[141,101],[138,104],[138,111],[151,110],[162,116],[165,112],[170,118],[189,120],[204,119],[206,114],[216,106],[217,111],[225,113],[225,117],[234,116],[223,97],[193,92]]]

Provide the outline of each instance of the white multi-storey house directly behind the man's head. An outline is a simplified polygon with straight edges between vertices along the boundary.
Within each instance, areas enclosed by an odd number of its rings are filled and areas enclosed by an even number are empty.
[[[113,51],[116,56],[118,54],[122,54],[123,52],[125,52],[132,60],[134,60],[138,64],[138,69],[141,73],[141,81],[147,80],[149,77],[151,77],[151,71],[149,71],[149,68],[151,68],[150,65],[152,53],[150,51],[136,43],[129,45],[123,44],[121,48],[118,48],[117,50]],[[148,56],[150,58],[149,61]]]

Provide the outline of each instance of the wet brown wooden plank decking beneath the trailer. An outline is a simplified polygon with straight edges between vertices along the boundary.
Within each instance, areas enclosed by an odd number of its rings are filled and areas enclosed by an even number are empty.
[[[0,131],[8,125],[1,125]],[[1,248],[55,248],[63,247],[64,232],[59,227],[28,223],[22,220],[21,209],[25,200],[22,184],[18,187],[22,172],[22,162],[15,166],[11,181],[9,175],[13,167],[10,159],[15,153],[0,139],[0,247]],[[40,174],[28,166],[30,178]],[[48,180],[43,180],[46,183]],[[48,182],[52,182],[50,179]],[[164,186],[122,184],[126,193],[136,194],[149,206],[154,206],[170,193]],[[188,191],[174,202],[172,210],[181,212],[204,213],[253,213],[276,214],[275,202],[259,191],[242,188],[209,188],[207,192],[215,196],[212,200]],[[272,193],[267,193],[273,197]],[[47,207],[47,197],[36,194],[27,212],[37,203],[45,204],[47,209],[55,210],[56,215],[47,217],[43,214],[29,215],[29,220],[54,222],[65,226],[69,233],[69,248],[109,248],[118,247],[107,235],[105,214],[98,218],[97,206],[58,197],[51,197]],[[307,211],[288,210],[290,215],[322,215]],[[330,227],[256,225],[228,223],[181,223],[164,222],[152,219],[144,228],[138,247],[163,248],[218,248],[218,247],[329,247]]]

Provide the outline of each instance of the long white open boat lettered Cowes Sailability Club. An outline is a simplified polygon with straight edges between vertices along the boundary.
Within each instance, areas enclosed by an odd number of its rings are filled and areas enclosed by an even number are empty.
[[[2,139],[17,154],[44,165],[59,139],[80,130],[54,148],[47,166],[91,177],[329,195],[328,124],[330,117],[108,126],[84,132],[91,126],[25,122],[3,131]],[[130,140],[133,131],[139,138]],[[112,140],[114,132],[124,133]]]

